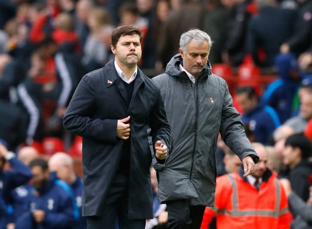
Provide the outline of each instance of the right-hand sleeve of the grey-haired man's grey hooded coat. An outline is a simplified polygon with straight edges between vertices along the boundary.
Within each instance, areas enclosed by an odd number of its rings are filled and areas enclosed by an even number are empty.
[[[239,113],[233,107],[233,100],[229,93],[228,86],[225,81],[223,83],[225,86],[225,93],[220,125],[221,137],[225,144],[239,156],[240,160],[243,160],[246,156],[251,156],[256,163],[259,157],[245,134]]]

